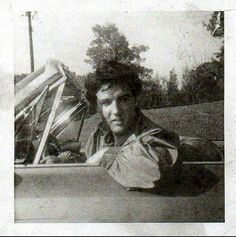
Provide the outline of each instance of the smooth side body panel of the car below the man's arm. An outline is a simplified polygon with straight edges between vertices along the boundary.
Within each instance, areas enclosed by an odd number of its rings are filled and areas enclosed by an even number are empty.
[[[15,168],[15,221],[222,222],[223,173],[185,164],[175,187],[128,191],[99,166]]]

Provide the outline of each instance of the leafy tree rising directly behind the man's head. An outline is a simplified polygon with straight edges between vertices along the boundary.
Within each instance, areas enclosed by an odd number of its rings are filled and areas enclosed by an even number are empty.
[[[130,47],[125,35],[118,30],[115,24],[95,25],[92,30],[95,39],[90,43],[86,53],[89,59],[86,59],[85,62],[92,65],[93,69],[102,59],[117,60],[133,64],[142,79],[151,78],[153,70],[141,65],[145,58],[140,56],[149,49],[148,46],[133,45]]]

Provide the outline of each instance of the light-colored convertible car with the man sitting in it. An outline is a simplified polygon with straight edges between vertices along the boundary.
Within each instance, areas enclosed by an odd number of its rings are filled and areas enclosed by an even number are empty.
[[[15,85],[15,222],[224,222],[218,144],[203,154],[206,144],[189,139],[192,155],[181,177],[159,189],[124,188],[98,164],[85,163],[80,150],[91,115],[75,77],[50,60]],[[181,149],[189,152],[188,142]],[[44,162],[50,156],[64,162]]]

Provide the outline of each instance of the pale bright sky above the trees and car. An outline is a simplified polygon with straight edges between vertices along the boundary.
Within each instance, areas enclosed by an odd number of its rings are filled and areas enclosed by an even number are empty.
[[[168,76],[175,69],[179,80],[186,66],[196,67],[219,51],[222,39],[203,27],[212,12],[129,12],[129,11],[43,11],[32,20],[35,69],[47,59],[62,61],[76,74],[84,75],[91,66],[84,62],[94,39],[92,27],[115,23],[130,46],[144,44],[144,66],[154,75]],[[28,21],[23,12],[14,15],[15,74],[30,72]]]

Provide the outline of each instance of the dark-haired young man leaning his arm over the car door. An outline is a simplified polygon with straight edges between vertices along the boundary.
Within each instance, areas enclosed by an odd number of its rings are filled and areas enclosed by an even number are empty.
[[[102,61],[85,86],[103,118],[85,147],[87,163],[99,163],[125,187],[153,188],[176,172],[179,137],[139,110],[142,84],[131,66]]]

